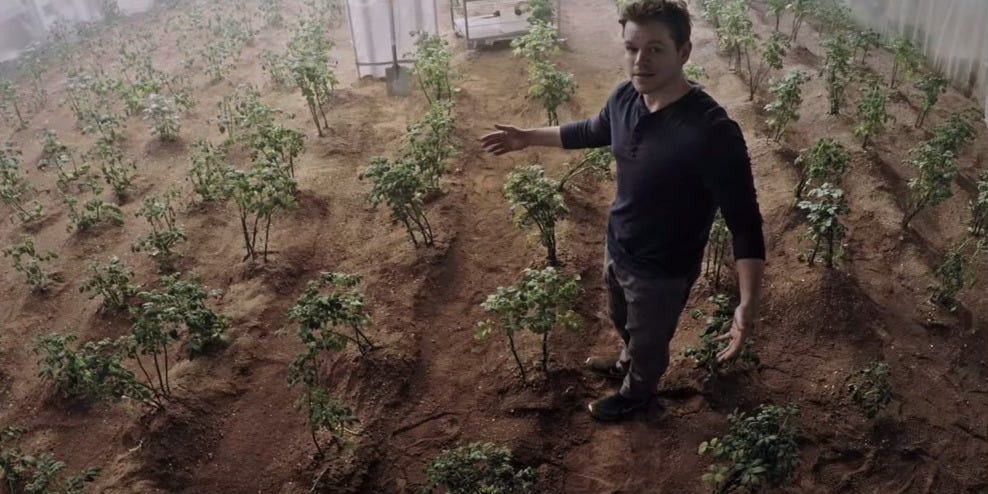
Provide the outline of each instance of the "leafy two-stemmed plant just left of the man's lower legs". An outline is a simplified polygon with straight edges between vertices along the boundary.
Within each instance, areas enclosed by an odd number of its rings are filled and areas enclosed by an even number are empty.
[[[526,269],[521,280],[498,287],[481,304],[485,311],[497,317],[496,324],[508,337],[508,348],[523,383],[528,378],[515,348],[515,334],[528,330],[542,337],[541,368],[549,372],[549,332],[555,327],[579,329],[580,317],[572,307],[582,293],[579,275],[566,274],[550,266],[542,270]],[[482,321],[477,324],[474,337],[486,339],[494,327],[494,322]]]

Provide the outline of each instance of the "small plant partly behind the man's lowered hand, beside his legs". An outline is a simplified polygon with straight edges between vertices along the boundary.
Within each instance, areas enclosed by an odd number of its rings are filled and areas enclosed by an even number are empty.
[[[724,327],[734,320],[733,304],[730,297],[724,294],[714,295],[708,298],[715,306],[713,314],[707,315],[701,309],[690,311],[690,317],[700,319],[706,317],[707,326],[700,334],[700,346],[687,346],[683,349],[683,356],[693,360],[697,369],[706,371],[705,380],[712,379],[729,369],[735,364],[758,364],[758,356],[755,355],[751,346],[751,341],[745,343],[741,353],[729,362],[717,362],[717,354],[727,348],[726,341],[714,341],[714,338],[721,334]]]

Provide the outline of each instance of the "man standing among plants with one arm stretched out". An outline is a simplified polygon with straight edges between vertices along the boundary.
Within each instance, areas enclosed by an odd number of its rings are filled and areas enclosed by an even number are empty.
[[[600,420],[648,404],[669,364],[669,342],[700,272],[719,207],[733,235],[741,300],[723,362],[734,358],[755,323],[765,242],[751,163],[738,125],[683,75],[690,18],[682,0],[638,0],[621,14],[630,81],[617,86],[595,118],[562,127],[496,125],[481,138],[495,155],[528,146],[612,146],[617,194],[604,258],[608,313],[621,336],[616,358],[587,365],[623,379],[621,390],[590,403]]]

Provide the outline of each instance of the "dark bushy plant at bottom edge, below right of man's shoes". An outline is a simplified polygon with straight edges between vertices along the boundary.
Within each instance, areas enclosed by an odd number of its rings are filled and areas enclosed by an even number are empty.
[[[800,463],[799,430],[792,423],[798,418],[796,405],[761,405],[751,415],[729,415],[727,434],[700,443],[699,454],[718,461],[703,474],[703,482],[716,494],[788,484]]]

